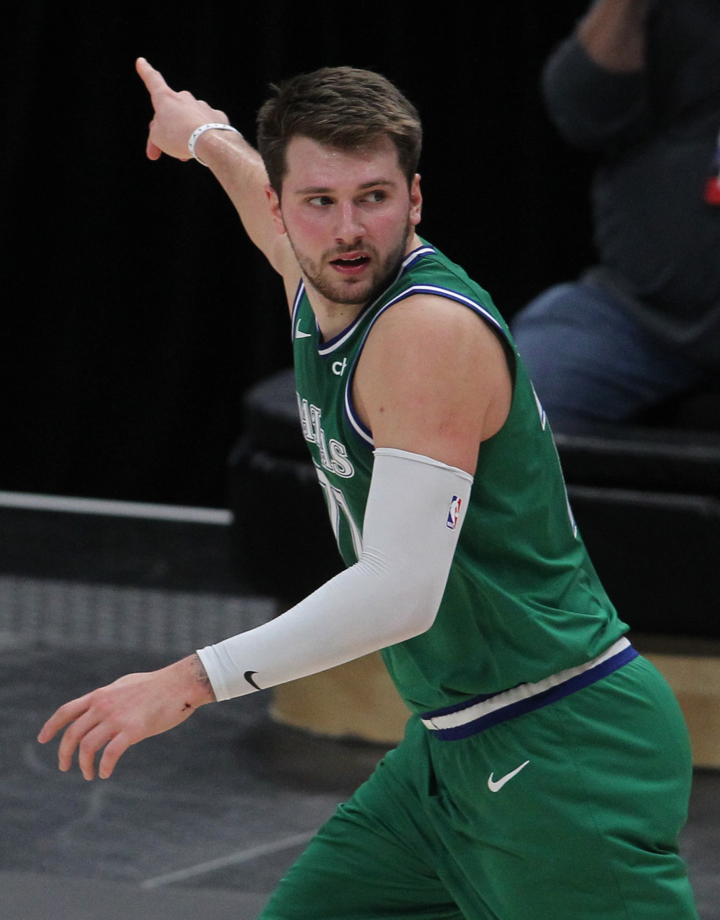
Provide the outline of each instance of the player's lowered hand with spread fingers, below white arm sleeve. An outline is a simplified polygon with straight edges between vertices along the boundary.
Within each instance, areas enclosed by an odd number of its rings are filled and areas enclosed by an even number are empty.
[[[64,729],[58,765],[69,770],[78,749],[86,779],[95,776],[95,755],[104,747],[98,773],[107,779],[132,744],[180,725],[214,699],[200,660],[191,655],[160,671],[126,674],[65,703],[43,725],[38,741],[49,742]]]

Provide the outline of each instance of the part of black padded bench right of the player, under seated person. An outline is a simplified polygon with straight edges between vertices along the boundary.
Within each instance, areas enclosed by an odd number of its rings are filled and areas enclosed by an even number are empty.
[[[703,430],[695,431],[689,426],[700,408]],[[720,637],[720,431],[713,426],[720,428],[720,393],[702,391],[674,398],[652,423],[555,433],[590,558],[638,632]]]

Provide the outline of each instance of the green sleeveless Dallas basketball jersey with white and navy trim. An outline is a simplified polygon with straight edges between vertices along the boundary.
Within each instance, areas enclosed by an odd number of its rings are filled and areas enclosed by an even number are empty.
[[[413,294],[473,310],[504,341],[514,375],[505,424],[480,446],[465,521],[430,629],[382,651],[414,712],[537,683],[595,658],[627,630],[598,581],[567,501],[552,433],[510,332],[489,295],[424,244],[337,337],[323,341],[301,282],[293,349],[303,434],[346,565],[362,552],[372,432],[352,399],[373,324]]]

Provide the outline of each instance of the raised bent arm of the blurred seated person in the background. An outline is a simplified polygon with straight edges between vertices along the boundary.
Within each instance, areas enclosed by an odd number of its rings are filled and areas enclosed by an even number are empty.
[[[546,63],[545,103],[570,144],[601,149],[642,122],[650,6],[650,0],[598,0]]]

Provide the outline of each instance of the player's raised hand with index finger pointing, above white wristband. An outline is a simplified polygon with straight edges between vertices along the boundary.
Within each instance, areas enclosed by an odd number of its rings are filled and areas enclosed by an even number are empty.
[[[211,109],[202,99],[183,90],[176,93],[170,89],[163,75],[145,61],[138,58],[135,69],[145,84],[155,109],[150,122],[145,152],[149,159],[157,160],[161,154],[188,160],[188,141],[195,128],[210,121],[227,123],[225,112]]]

